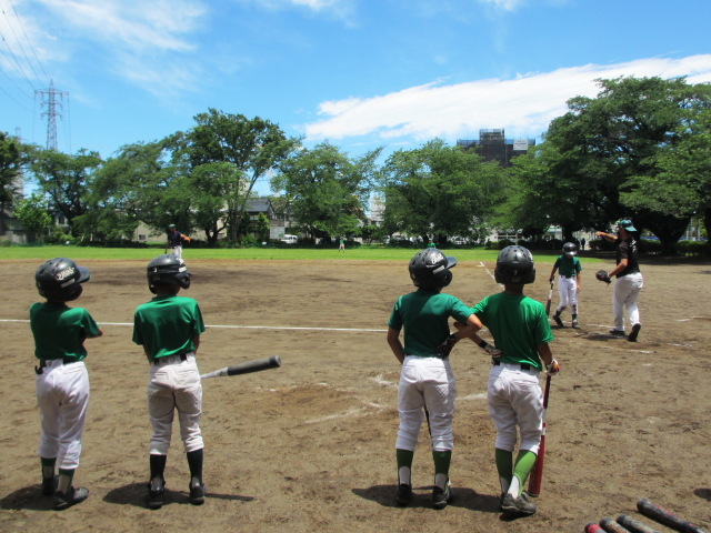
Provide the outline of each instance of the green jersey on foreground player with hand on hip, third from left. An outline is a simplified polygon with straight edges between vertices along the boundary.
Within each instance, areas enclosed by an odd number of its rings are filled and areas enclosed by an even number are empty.
[[[400,296],[392,308],[388,328],[404,326],[404,353],[433,358],[449,336],[449,318],[467,323],[471,310],[454,296],[418,289]]]

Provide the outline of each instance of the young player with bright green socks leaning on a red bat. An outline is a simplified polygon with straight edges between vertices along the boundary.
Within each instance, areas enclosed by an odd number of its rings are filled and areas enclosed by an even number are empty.
[[[543,394],[539,373],[545,368],[554,375],[560,366],[548,345],[553,335],[543,305],[523,295],[523,285],[535,281],[531,252],[523,247],[504,248],[497,259],[494,278],[503,283],[503,292],[484,298],[472,312],[489,328],[503,352],[491,360],[487,390],[489,414],[497,429],[500,510],[531,515],[535,513],[535,505],[523,492],[523,484],[535,463],[541,442]],[[517,426],[521,443],[514,464]]]

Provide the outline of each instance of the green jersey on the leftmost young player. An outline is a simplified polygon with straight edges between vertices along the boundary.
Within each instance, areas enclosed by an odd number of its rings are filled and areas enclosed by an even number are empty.
[[[99,333],[99,326],[86,309],[52,302],[30,305],[30,329],[37,359],[63,359],[66,363],[84,359],[84,339]]]

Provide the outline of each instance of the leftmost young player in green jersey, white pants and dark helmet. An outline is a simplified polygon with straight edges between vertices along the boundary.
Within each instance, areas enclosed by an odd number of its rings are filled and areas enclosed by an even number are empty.
[[[30,306],[34,356],[39,360],[34,390],[42,428],[37,454],[42,466],[42,494],[54,495],[58,511],[89,496],[87,489],[74,489],[72,480],[89,405],[84,340],[101,336],[103,331],[84,309],[70,308],[67,302],[81,295],[81,284],[90,278],[87,269],[67,258],[50,259],[34,273],[37,289],[47,299]]]

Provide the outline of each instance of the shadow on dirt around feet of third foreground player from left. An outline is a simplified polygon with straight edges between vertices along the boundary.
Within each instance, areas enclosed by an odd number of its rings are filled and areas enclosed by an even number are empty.
[[[397,507],[395,485],[373,485],[367,489],[351,489],[357,496],[379,503],[383,507]],[[449,505],[464,507],[470,511],[484,513],[499,513],[499,497],[489,494],[479,494],[472,489],[452,487],[454,500]],[[412,503],[410,507],[432,507],[432,486],[417,486],[412,489]]]

